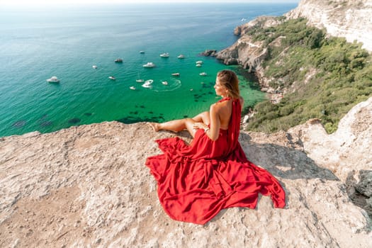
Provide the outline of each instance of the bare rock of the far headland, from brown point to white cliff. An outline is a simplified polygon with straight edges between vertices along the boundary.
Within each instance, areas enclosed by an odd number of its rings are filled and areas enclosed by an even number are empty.
[[[308,25],[325,28],[328,35],[344,37],[349,42],[363,43],[363,48],[372,51],[372,0],[302,0],[296,9],[286,13],[286,18],[308,18]],[[230,47],[215,52],[215,57],[225,64],[239,64],[249,72],[254,72],[264,91],[269,88],[269,81],[264,77],[261,62],[267,57],[268,47],[261,41],[253,41],[246,35],[252,28],[268,28],[286,21],[271,16],[260,16],[249,23],[237,26],[235,35],[239,36],[236,43]],[[278,37],[271,47],[281,44],[282,37]],[[271,89],[272,90],[272,89]]]

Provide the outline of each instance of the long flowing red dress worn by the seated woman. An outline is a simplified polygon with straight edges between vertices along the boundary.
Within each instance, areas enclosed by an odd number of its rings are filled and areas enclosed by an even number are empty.
[[[259,193],[271,196],[276,208],[286,205],[281,184],[245,156],[237,140],[240,113],[239,99],[233,100],[229,127],[215,141],[203,129],[190,145],[179,137],[156,140],[164,154],[148,157],[146,166],[172,219],[203,225],[223,208],[256,208]]]

